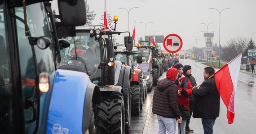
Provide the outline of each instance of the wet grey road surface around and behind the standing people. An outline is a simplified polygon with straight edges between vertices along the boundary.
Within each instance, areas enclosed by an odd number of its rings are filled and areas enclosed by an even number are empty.
[[[192,75],[197,84],[203,82],[203,68],[205,65],[190,59],[180,59],[183,65],[192,67]],[[217,71],[217,69],[215,70]],[[164,73],[160,79],[165,78]],[[160,80],[159,79],[159,80]],[[238,78],[238,87],[235,94],[235,118],[233,124],[228,124],[226,113],[227,109],[221,100],[220,116],[217,117],[213,127],[214,134],[254,134],[256,133],[256,75],[250,72],[240,71]],[[139,116],[132,116],[131,129],[129,134],[157,134],[158,122],[156,116],[152,113],[152,97],[154,94],[148,92],[147,98],[143,103],[143,109]],[[203,126],[200,118],[190,119],[190,128],[194,133],[203,134]],[[176,134],[177,134],[176,129]]]

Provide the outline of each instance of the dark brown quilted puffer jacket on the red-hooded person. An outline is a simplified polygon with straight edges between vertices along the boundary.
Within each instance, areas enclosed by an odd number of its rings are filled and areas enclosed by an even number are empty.
[[[154,91],[152,112],[168,118],[181,117],[177,97],[178,87],[175,82],[169,79],[159,80]]]

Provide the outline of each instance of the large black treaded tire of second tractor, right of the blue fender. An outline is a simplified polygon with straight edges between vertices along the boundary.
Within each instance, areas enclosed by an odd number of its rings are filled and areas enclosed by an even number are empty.
[[[104,92],[97,106],[97,134],[124,134],[124,98],[120,92]]]

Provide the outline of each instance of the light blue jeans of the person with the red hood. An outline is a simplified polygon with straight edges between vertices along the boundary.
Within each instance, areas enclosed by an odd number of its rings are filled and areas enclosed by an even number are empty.
[[[176,131],[176,119],[167,118],[157,115],[159,131],[158,134],[175,134]]]

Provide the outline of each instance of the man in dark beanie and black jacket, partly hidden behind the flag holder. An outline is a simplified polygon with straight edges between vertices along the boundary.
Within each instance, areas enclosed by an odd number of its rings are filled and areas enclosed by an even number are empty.
[[[195,87],[197,84],[196,84],[194,77],[192,76],[192,69],[191,69],[190,65],[184,66],[184,73],[185,73],[186,77],[188,78],[188,80],[190,81],[192,87]],[[190,108],[190,117],[191,117],[193,110],[194,110],[194,95],[189,96],[189,98],[190,98],[189,108]],[[194,132],[194,130],[190,130],[189,124],[190,124],[190,119],[187,119],[186,127],[185,127],[186,132]]]

